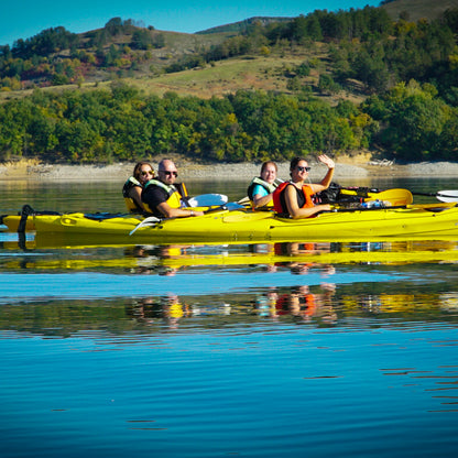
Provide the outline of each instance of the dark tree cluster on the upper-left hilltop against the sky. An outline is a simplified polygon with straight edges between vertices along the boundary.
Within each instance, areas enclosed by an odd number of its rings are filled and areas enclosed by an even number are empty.
[[[84,36],[65,28],[51,28],[13,46],[0,46],[0,88],[17,90],[83,83],[97,69],[134,69],[148,58],[151,48],[164,46],[154,28],[139,28],[132,20],[113,18],[105,28]],[[116,36],[128,36],[123,45],[112,43]],[[138,50],[143,51],[138,54]]]

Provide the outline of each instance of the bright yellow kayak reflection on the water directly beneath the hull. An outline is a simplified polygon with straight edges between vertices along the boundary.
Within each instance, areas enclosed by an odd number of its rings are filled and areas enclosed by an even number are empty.
[[[139,274],[173,275],[197,266],[260,265],[268,272],[288,266],[293,274],[306,274],[320,264],[328,274],[337,264],[456,263],[458,242],[385,241],[360,243],[262,243],[262,244],[172,244],[172,246],[101,246],[34,248],[25,247],[0,233],[0,270],[90,270],[123,268]]]

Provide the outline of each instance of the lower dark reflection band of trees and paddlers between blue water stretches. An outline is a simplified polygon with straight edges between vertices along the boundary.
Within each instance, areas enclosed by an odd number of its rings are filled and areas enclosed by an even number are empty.
[[[428,293],[414,292],[413,287],[405,292],[390,291],[399,287],[383,287],[377,293],[373,285],[355,287],[323,283],[312,286],[302,282],[292,287],[271,286],[220,295],[167,292],[111,301],[6,304],[0,307],[0,330],[67,337],[88,329],[113,334],[144,332],[146,329],[161,332],[164,327],[176,329],[183,325],[188,331],[244,325],[264,328],[269,323],[353,330],[373,326],[456,325],[458,291]]]

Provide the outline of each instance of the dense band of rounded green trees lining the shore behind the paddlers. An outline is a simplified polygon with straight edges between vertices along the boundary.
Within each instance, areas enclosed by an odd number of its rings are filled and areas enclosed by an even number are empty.
[[[111,162],[182,153],[200,160],[285,159],[369,145],[377,123],[349,103],[331,108],[303,97],[240,91],[203,100],[168,92],[36,90],[0,106],[3,157]]]

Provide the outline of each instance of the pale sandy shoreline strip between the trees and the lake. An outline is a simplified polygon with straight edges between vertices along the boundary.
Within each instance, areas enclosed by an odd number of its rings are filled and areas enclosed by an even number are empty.
[[[174,157],[172,157],[174,159]],[[174,159],[183,179],[251,179],[259,175],[260,163],[221,163],[203,165],[183,159]],[[157,171],[157,161],[151,162]],[[4,181],[126,181],[131,176],[134,163],[117,163],[110,165],[59,165],[40,164],[31,161],[0,164],[0,179]],[[288,162],[277,163],[279,177],[290,174]],[[310,178],[321,179],[326,166],[310,161]],[[397,165],[390,163],[369,163],[360,161],[336,162],[334,178],[348,177],[458,177],[458,163],[423,162],[417,164]]]

